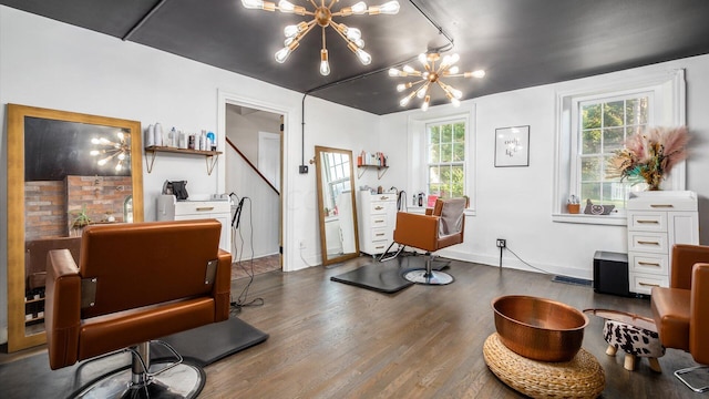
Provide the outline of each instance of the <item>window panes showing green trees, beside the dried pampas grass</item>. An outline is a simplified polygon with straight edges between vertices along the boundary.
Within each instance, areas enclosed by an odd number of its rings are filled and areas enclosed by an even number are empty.
[[[590,200],[594,204],[625,206],[630,184],[606,177],[606,168],[625,140],[648,124],[648,110],[649,95],[645,94],[579,103],[577,182],[583,203]]]

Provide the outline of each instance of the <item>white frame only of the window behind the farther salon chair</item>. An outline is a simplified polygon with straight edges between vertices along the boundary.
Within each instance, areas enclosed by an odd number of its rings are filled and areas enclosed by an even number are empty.
[[[427,153],[427,125],[451,121],[465,123],[465,195],[470,198],[465,215],[475,215],[475,104],[461,104],[459,109],[451,106],[432,108],[427,112],[414,111],[408,120],[407,151],[410,158],[410,167],[407,176],[407,200],[425,192],[428,185],[428,153]],[[428,194],[428,193],[427,193]],[[410,211],[412,209],[409,206]]]

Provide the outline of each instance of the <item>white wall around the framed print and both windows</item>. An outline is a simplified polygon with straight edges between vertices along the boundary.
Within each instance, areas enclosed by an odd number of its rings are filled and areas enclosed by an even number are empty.
[[[687,125],[693,140],[687,162],[687,190],[699,195],[700,242],[709,244],[709,55],[676,60],[607,75],[548,84],[471,100],[476,109],[475,158],[476,215],[467,216],[465,242],[441,254],[499,265],[495,238],[506,238],[507,246],[522,259],[551,273],[593,278],[596,250],[626,252],[625,226],[580,225],[552,222],[554,145],[556,134],[556,93],[587,89],[641,73],[686,69]],[[494,79],[489,71],[486,79]],[[463,102],[463,105],[467,102]],[[445,105],[432,108],[455,109]],[[407,140],[409,117],[419,111],[397,113],[381,119],[383,151],[395,156],[392,165],[410,164],[412,154],[395,152]],[[494,132],[499,127],[530,125],[530,166],[494,167]],[[408,158],[400,158],[400,157]],[[405,170],[390,171],[388,177],[407,181]],[[415,190],[415,187],[414,187]],[[511,253],[503,266],[525,268]]]

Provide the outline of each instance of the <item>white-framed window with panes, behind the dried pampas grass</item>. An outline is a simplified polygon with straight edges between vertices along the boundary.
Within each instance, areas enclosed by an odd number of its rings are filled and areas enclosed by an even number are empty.
[[[569,82],[579,85],[557,93],[555,222],[625,225],[630,191],[644,190],[607,177],[607,161],[638,127],[685,125],[685,71],[640,69]],[[685,190],[685,164],[664,183],[665,190]],[[580,197],[582,214],[569,215],[566,203]],[[586,200],[615,205],[608,216],[584,215]]]

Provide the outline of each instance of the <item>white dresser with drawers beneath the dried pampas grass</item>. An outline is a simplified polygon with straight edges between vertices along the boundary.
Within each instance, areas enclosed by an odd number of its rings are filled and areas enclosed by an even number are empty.
[[[628,283],[631,293],[668,287],[675,244],[699,244],[697,194],[689,191],[630,193]]]

